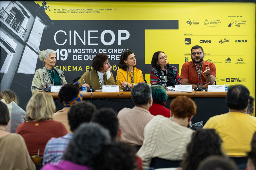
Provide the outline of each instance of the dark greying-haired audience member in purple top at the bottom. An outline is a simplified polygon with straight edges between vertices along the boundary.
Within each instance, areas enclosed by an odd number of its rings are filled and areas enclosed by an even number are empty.
[[[70,140],[63,161],[47,164],[41,170],[96,170],[101,166],[102,150],[110,142],[108,130],[97,123],[83,123]]]

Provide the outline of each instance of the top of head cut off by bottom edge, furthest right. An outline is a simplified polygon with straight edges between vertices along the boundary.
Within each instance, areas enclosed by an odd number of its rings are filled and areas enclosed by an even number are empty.
[[[238,170],[238,167],[229,157],[214,155],[204,159],[197,170]]]

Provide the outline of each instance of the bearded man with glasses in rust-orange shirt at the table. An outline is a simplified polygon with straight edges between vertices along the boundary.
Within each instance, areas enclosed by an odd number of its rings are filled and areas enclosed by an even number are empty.
[[[191,48],[192,61],[186,62],[181,68],[181,84],[191,84],[194,89],[197,86],[199,75],[199,86],[202,89],[208,88],[208,85],[214,84],[216,77],[216,67],[213,63],[204,61],[204,50],[199,45]],[[200,63],[202,63],[201,68]]]

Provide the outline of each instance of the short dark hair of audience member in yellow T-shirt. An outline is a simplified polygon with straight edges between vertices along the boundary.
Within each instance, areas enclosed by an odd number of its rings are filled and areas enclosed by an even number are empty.
[[[229,109],[243,110],[248,106],[250,91],[242,84],[229,86],[226,104]]]

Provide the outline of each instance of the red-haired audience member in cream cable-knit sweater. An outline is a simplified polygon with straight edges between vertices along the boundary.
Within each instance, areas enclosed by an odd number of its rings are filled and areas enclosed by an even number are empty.
[[[155,116],[144,129],[144,142],[137,155],[142,158],[143,169],[154,157],[182,160],[193,130],[187,128],[196,113],[196,105],[186,96],[176,97],[170,104],[172,117]]]

